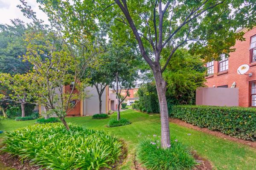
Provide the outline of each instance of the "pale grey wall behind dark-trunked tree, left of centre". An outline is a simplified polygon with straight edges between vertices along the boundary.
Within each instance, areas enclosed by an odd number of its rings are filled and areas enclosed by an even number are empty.
[[[93,87],[87,87],[85,88],[85,91],[87,92],[87,95],[90,96],[88,99],[84,99],[83,105],[84,105],[84,115],[82,116],[90,116],[94,115],[96,113],[99,113],[99,96],[97,93],[96,88]],[[106,90],[102,94],[102,113],[106,112],[107,102],[106,102]]]

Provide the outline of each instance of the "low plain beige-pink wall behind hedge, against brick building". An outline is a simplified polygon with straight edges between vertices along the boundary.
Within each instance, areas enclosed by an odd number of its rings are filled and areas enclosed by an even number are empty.
[[[238,106],[239,88],[198,88],[196,105]]]

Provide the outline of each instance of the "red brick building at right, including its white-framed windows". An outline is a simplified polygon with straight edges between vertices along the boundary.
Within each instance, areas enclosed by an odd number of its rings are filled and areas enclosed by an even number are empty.
[[[216,88],[233,85],[239,88],[239,106],[253,107],[256,106],[256,27],[239,31],[244,31],[245,41],[236,42],[236,51],[227,59],[221,56],[221,61],[207,63],[206,85]],[[239,75],[237,69],[243,64],[250,66],[249,71]]]

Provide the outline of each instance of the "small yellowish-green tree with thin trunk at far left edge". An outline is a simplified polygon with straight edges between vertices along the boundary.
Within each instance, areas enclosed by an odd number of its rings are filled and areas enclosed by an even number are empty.
[[[32,82],[30,74],[15,74],[13,77],[11,74],[0,74],[1,85],[6,87],[7,91],[11,91],[11,94],[3,91],[0,96],[1,99],[19,103],[21,106],[21,116],[25,117],[25,105],[33,101],[33,96],[29,93],[29,83]]]

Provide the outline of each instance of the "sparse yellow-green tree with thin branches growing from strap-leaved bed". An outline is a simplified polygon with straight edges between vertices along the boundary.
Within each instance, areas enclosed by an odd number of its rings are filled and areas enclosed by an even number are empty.
[[[69,130],[65,116],[85,97],[84,69],[79,58],[74,57],[63,40],[54,31],[28,34],[27,53],[23,57],[33,65],[29,84],[31,96],[35,102],[43,105],[50,113],[55,113]],[[41,41],[42,44],[35,42]],[[41,58],[41,54],[45,57]],[[90,63],[90,62],[88,62]],[[65,85],[73,85],[71,90],[64,90]],[[70,101],[76,100],[73,105]]]

